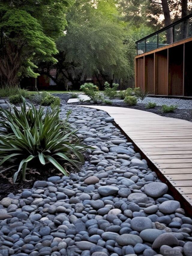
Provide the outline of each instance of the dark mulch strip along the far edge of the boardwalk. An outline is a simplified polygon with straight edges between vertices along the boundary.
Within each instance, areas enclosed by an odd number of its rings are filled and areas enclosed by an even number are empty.
[[[126,108],[134,108],[134,109],[139,109],[139,110],[144,110],[148,112],[152,112],[155,114],[158,114],[160,116],[166,116],[166,117],[172,117],[172,118],[178,118],[178,119],[184,119],[187,121],[192,122],[192,110],[191,109],[177,109],[173,113],[162,113],[161,112],[161,107],[155,107],[152,109],[146,109],[145,104],[137,104],[136,106],[126,106],[124,103],[122,104],[112,104],[112,105],[107,105],[107,104],[93,104],[90,102],[77,102],[77,103],[70,103],[70,104],[75,104],[75,105],[96,105],[96,106],[113,106],[113,107],[126,107]]]

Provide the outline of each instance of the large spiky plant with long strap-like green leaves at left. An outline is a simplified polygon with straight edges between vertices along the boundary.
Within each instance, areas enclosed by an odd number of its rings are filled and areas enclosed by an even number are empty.
[[[52,163],[64,175],[68,175],[65,165],[78,168],[77,163],[84,161],[81,152],[86,146],[79,144],[76,130],[71,131],[59,119],[59,110],[50,112],[41,107],[37,110],[24,98],[20,107],[21,110],[15,106],[10,111],[2,109],[0,120],[0,166],[5,161],[18,164],[13,182],[20,171],[23,180],[26,179],[27,165],[35,159],[33,163]],[[64,160],[64,167],[58,163],[59,159]]]

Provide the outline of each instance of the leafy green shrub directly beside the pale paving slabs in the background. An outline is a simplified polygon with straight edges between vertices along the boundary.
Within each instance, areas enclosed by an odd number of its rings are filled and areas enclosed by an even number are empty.
[[[103,100],[99,88],[93,83],[84,83],[80,89],[85,92],[85,94],[93,101],[94,103],[100,102]]]

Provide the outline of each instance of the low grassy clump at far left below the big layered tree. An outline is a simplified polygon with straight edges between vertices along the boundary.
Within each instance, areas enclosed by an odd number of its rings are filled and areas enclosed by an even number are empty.
[[[8,86],[5,85],[4,87],[0,88],[0,97],[1,98],[9,98],[13,95],[21,95],[22,97],[26,98],[28,96],[28,92],[25,89],[20,89],[18,86]]]

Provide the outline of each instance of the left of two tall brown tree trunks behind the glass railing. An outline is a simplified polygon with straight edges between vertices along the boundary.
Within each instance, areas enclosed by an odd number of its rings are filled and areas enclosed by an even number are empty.
[[[163,14],[164,14],[164,23],[165,26],[168,26],[171,24],[171,16],[170,16],[170,9],[167,0],[161,0],[162,8],[163,8]],[[167,29],[167,44],[173,43],[173,28]]]

